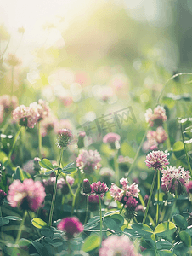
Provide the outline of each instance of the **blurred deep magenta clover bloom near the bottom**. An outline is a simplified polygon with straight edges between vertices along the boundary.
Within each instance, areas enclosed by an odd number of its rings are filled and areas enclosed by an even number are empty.
[[[58,230],[65,232],[66,239],[70,240],[83,231],[83,225],[76,217],[64,218],[57,225]]]

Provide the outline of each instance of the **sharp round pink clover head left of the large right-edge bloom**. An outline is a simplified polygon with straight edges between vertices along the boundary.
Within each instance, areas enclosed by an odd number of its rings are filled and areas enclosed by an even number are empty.
[[[168,164],[167,154],[161,150],[152,151],[146,156],[146,165],[149,168],[163,170]]]

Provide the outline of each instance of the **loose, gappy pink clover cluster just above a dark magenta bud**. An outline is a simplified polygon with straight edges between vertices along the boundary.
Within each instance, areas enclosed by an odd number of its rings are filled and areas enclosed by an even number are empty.
[[[138,193],[140,192],[138,189],[138,184],[132,183],[129,186],[127,178],[124,177],[121,178],[120,184],[122,189],[117,187],[114,183],[111,184],[110,195],[114,198],[115,201],[120,201],[125,206],[125,208],[130,207],[130,203],[132,202],[133,207],[136,207],[138,201],[136,201],[134,197],[138,198]]]

